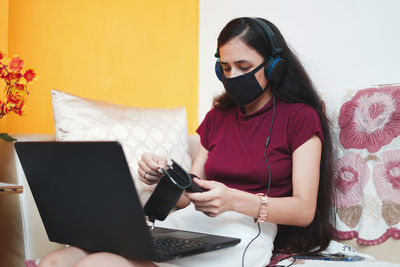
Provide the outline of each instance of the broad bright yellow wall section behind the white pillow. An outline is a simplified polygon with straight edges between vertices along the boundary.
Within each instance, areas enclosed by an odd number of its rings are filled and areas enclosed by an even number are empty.
[[[4,0],[2,0],[4,1]],[[197,126],[198,0],[11,0],[9,55],[39,79],[9,133],[53,133],[50,90],[140,107],[185,106]]]

